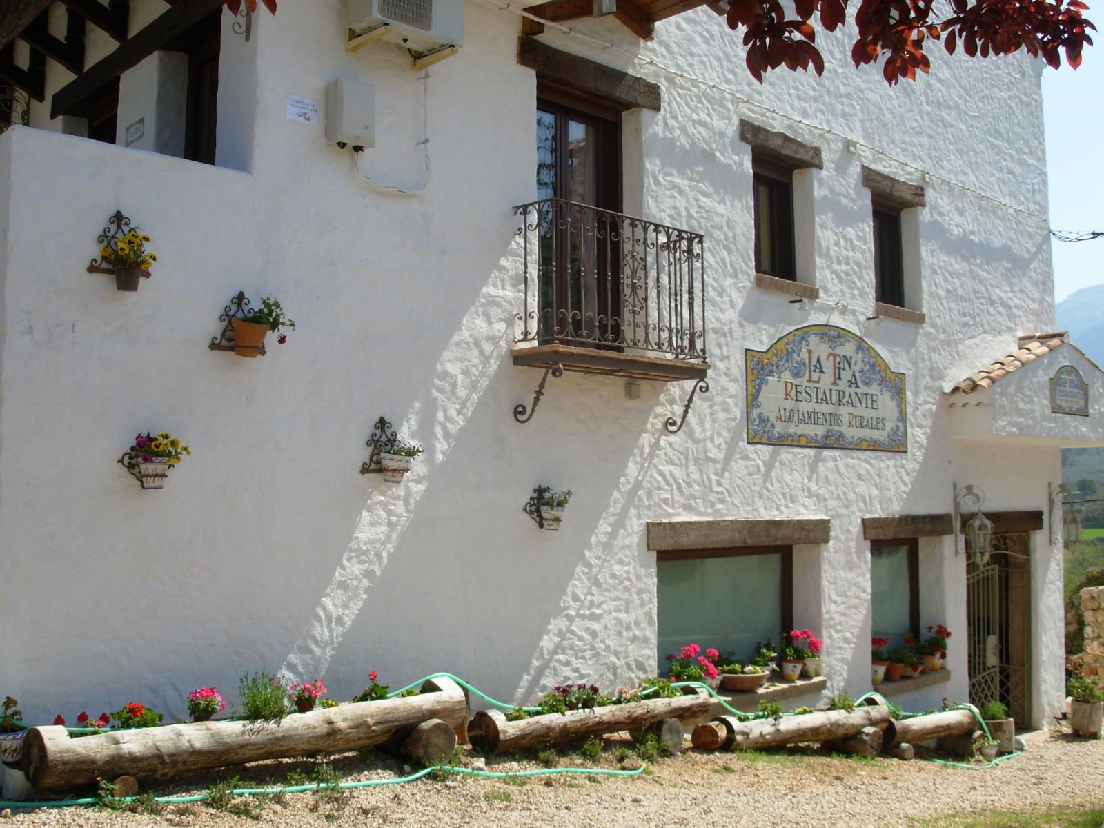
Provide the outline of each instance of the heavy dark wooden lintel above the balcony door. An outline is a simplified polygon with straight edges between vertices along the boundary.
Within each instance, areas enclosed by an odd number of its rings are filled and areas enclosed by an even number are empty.
[[[533,38],[521,38],[518,63],[542,78],[597,95],[625,109],[644,107],[659,112],[659,85],[596,61],[561,52]]]

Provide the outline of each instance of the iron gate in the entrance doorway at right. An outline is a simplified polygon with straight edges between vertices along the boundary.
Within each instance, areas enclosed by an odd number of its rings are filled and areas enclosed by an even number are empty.
[[[1031,721],[1030,548],[1027,533],[995,534],[989,561],[966,570],[970,703],[1004,702],[1023,726]]]

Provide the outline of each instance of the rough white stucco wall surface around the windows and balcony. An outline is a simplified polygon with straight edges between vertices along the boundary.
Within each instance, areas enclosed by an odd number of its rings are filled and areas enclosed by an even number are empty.
[[[870,689],[861,518],[951,511],[955,479],[983,486],[995,510],[1045,508],[1058,448],[956,443],[942,401],[1016,333],[1053,326],[1036,63],[941,54],[931,77],[888,89],[827,36],[821,81],[777,72],[760,87],[704,9],[659,23],[652,43],[609,20],[573,23],[722,92],[550,32],[553,46],[662,86],[660,113],[625,118],[624,203],[705,235],[711,391],[671,436],[661,422],[687,383],[644,382],[629,401],[620,380],[565,374],[521,426],[511,408],[540,373],[509,359],[521,304],[510,208],[532,200],[535,167],[519,19],[468,0],[464,49],[429,71],[432,183],[397,198],[368,189],[322,125],[285,117],[288,95],[321,104],[336,76],[372,83],[378,140],[362,163],[421,182],[417,75],[388,44],[347,53],[343,8],[282,4],[254,18],[248,44],[224,20],[219,157],[244,173],[33,130],[0,137],[19,205],[0,340],[0,549],[17,585],[0,605],[0,688],[31,720],[130,699],[182,714],[193,687],[233,696],[261,668],[325,677],[336,698],[373,668],[392,683],[448,670],[517,702],[569,678],[628,684],[655,667],[645,523],[669,518],[830,518],[829,544],[795,551],[795,622],[827,641],[828,693],[858,696]],[[809,173],[820,302],[753,287],[740,117],[824,151]],[[923,326],[866,319],[863,163],[936,176],[917,220]],[[137,294],[84,272],[116,209],[159,256]],[[280,299],[297,322],[287,346],[257,360],[206,349],[240,289]],[[907,455],[747,446],[744,348],[818,322],[859,333],[907,375]],[[426,448],[400,487],[357,474],[381,414]],[[147,429],[193,450],[160,492],[115,463]],[[521,512],[539,482],[575,492],[558,533]],[[913,709],[967,694],[965,564],[951,539],[921,549],[922,623],[956,636],[953,680],[903,697]],[[1052,559],[1033,564],[1037,654],[1061,646]],[[1041,724],[1062,677],[1057,657],[1037,664]]]

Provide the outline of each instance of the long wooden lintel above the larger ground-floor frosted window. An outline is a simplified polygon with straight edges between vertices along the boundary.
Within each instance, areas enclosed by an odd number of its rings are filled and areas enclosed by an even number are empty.
[[[827,518],[781,520],[649,520],[648,549],[733,549],[828,543]]]

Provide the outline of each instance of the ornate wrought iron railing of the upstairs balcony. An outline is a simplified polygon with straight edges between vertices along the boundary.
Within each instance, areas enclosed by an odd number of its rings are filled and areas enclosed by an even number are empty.
[[[524,255],[516,342],[705,360],[700,233],[563,199],[513,212]]]

